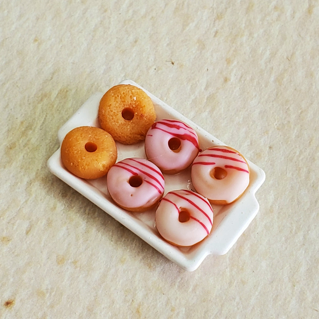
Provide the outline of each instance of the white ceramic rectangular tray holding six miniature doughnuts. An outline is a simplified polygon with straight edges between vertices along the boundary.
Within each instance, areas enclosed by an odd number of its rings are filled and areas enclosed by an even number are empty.
[[[131,80],[122,81],[121,84],[131,84],[142,88]],[[224,143],[216,137],[198,127],[197,124],[191,122],[188,118],[169,107],[144,88],[142,89],[153,101],[157,120],[172,118],[189,124],[196,130],[200,147],[203,150],[214,145],[224,145]],[[104,93],[93,94],[61,127],[58,131],[60,145],[65,135],[75,127],[83,125],[99,127],[97,113],[99,102],[103,94]],[[129,157],[146,158],[144,142],[135,145],[122,145],[117,143],[117,150],[117,161]],[[143,213],[130,213],[116,206],[108,194],[106,177],[101,177],[96,180],[84,180],[67,171],[61,161],[60,148],[49,158],[48,167],[58,178],[99,206],[103,211],[107,212],[133,233],[137,234],[137,236],[172,262],[178,264],[184,270],[193,271],[197,269],[207,255],[226,254],[256,216],[259,210],[259,204],[256,200],[255,193],[264,182],[265,173],[249,160],[248,163],[250,166],[250,183],[244,194],[232,204],[225,206],[212,205],[214,220],[211,234],[200,243],[183,248],[171,245],[160,237],[154,222],[155,210]],[[190,178],[190,169],[176,175],[164,174],[164,177],[164,195],[174,189],[194,190]]]

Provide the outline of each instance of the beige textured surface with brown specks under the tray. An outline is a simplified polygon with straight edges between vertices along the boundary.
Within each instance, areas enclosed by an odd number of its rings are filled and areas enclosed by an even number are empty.
[[[318,318],[319,2],[0,2],[0,318]],[[185,272],[50,174],[130,78],[263,168],[260,211]]]

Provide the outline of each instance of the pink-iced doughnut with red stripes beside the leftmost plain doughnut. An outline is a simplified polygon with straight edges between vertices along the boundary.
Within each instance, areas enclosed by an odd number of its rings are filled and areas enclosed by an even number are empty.
[[[146,211],[155,207],[163,196],[164,185],[159,168],[141,158],[117,162],[107,176],[110,196],[127,211]]]

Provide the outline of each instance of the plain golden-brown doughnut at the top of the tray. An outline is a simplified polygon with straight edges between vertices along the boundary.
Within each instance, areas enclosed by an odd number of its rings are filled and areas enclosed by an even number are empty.
[[[103,95],[98,118],[101,128],[115,141],[128,145],[144,141],[156,114],[151,98],[142,89],[120,84]]]

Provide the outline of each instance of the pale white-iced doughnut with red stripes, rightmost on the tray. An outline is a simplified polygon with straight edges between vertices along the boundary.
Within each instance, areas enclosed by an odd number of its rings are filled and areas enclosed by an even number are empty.
[[[214,146],[194,159],[191,178],[196,191],[212,204],[229,204],[247,188],[249,166],[235,149],[223,145]]]

